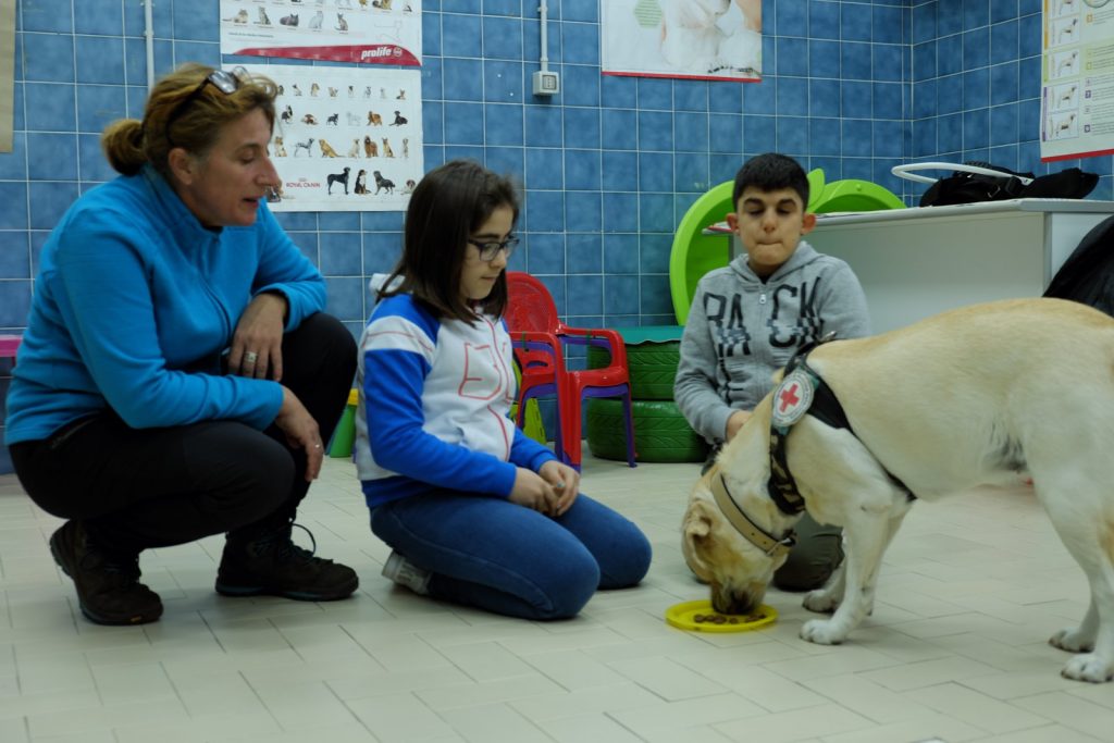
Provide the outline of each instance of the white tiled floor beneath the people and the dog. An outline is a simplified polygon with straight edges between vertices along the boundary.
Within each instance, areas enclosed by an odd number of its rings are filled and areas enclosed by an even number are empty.
[[[645,583],[539,624],[438,604],[379,575],[352,466],[328,460],[301,521],[360,573],[333,604],[213,592],[221,539],[145,554],[166,605],[144,627],[80,618],[46,540],[59,521],[0,477],[0,741],[912,743],[1114,740],[1114,684],[1059,676],[1046,644],[1086,608],[1083,574],[1032,496],[921,504],[879,598],[839,647],[779,620],[686,634],[663,612],[703,598],[678,525],[696,465],[587,459],[586,492],[654,544]]]

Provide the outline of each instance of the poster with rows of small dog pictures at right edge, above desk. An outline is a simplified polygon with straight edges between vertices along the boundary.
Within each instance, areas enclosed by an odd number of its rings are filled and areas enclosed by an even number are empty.
[[[1040,159],[1114,154],[1114,2],[1044,0]]]

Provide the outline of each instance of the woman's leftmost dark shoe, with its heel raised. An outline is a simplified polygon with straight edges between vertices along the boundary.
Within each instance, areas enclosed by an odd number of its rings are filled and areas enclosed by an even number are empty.
[[[74,579],[78,604],[95,624],[147,624],[163,615],[158,594],[139,583],[139,555],[94,544],[80,521],[67,521],[50,537],[50,554]]]

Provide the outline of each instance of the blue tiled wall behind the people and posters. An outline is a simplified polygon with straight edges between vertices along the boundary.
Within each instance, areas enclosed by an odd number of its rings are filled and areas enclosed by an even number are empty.
[[[530,95],[541,25],[522,0],[426,0],[427,167],[468,156],[522,185],[512,267],[543,276],[574,324],[670,324],[673,231],[749,156],[776,149],[829,180],[915,159],[1039,162],[1040,0],[764,0],[761,84],[602,76],[599,2],[549,0],[563,92]],[[221,59],[217,0],[154,3],[155,71]],[[21,329],[38,251],[81,193],[114,176],[98,135],[140,116],[143,0],[17,3],[14,148],[0,154],[0,332]],[[258,59],[246,61],[257,62]],[[1103,178],[1111,158],[1078,165]],[[353,331],[365,277],[394,264],[400,213],[281,214]]]

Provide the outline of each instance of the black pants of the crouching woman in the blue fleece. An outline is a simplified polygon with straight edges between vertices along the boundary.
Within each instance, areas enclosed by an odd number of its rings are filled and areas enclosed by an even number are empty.
[[[317,313],[285,334],[282,355],[282,383],[328,442],[355,372],[351,333]],[[81,520],[97,544],[124,553],[289,522],[310,487],[305,451],[274,424],[264,431],[226,420],[133,429],[105,411],[48,439],[16,443],[11,458],[39,507]]]

